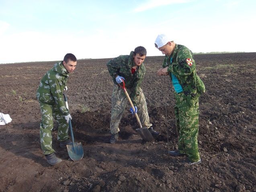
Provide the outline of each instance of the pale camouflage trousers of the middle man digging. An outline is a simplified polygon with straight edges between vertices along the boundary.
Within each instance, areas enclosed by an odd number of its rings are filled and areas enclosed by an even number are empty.
[[[130,94],[130,90],[127,89],[128,94]],[[142,127],[150,128],[152,124],[150,123],[150,118],[147,113],[147,103],[145,96],[139,88],[140,94],[135,98],[137,101],[137,114],[139,116],[139,120],[141,121]],[[125,107],[127,105],[127,98],[123,89],[120,88],[117,84],[114,84],[113,94],[112,94],[112,110],[111,110],[111,121],[110,121],[110,131],[111,134],[118,133],[119,123],[123,116]],[[135,118],[135,117],[134,117]]]

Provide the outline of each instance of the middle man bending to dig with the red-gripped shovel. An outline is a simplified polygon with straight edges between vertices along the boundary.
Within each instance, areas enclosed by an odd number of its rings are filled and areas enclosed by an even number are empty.
[[[141,125],[147,127],[153,136],[160,135],[160,133],[154,131],[152,124],[150,123],[150,118],[147,113],[147,103],[140,88],[146,71],[143,64],[146,55],[146,49],[139,46],[136,47],[134,51],[131,51],[130,55],[120,55],[119,57],[111,59],[106,64],[109,69],[109,74],[112,76],[114,82],[110,122],[110,130],[112,134],[110,143],[112,144],[114,144],[118,138],[118,132],[120,131],[118,126],[127,104],[125,93],[118,85],[122,83],[122,79],[125,82],[125,87],[131,101],[135,106],[135,112],[130,108],[131,113],[134,114],[138,111]]]

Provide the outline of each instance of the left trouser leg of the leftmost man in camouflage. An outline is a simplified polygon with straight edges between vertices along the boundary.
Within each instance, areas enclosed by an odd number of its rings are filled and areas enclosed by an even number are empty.
[[[52,106],[43,102],[39,102],[42,121],[40,124],[40,143],[45,155],[51,154],[54,151],[52,148],[51,131],[53,129]]]

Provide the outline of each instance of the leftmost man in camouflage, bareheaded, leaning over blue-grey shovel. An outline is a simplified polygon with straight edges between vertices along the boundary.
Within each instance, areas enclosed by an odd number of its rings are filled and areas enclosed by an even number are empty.
[[[68,121],[71,118],[69,110],[63,100],[63,90],[67,90],[66,84],[69,73],[76,68],[76,57],[72,53],[65,55],[63,61],[55,63],[52,69],[41,79],[37,90],[37,100],[40,104],[42,121],[40,124],[40,142],[47,162],[55,165],[61,162],[52,148],[51,130],[53,129],[53,117],[59,124],[58,141],[60,147],[72,145],[68,137]]]

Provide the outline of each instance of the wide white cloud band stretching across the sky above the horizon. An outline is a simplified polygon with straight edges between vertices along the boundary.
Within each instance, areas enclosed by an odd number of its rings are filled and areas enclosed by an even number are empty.
[[[168,23],[172,25],[167,25]],[[10,28],[8,23],[0,22],[0,31],[10,31],[8,27]],[[78,59],[111,58],[128,55],[139,45],[147,49],[147,56],[162,55],[154,46],[157,35],[161,33],[193,52],[256,51],[256,40],[253,38],[255,30],[249,20],[204,24],[199,22],[191,27],[184,27],[174,16],[169,20],[143,26],[143,30],[135,29],[140,29],[140,23],[117,27],[115,30],[111,27],[98,27],[92,31],[80,29],[74,33],[65,30],[49,33],[0,33],[0,63],[55,61],[61,60],[66,53],[73,53]]]

